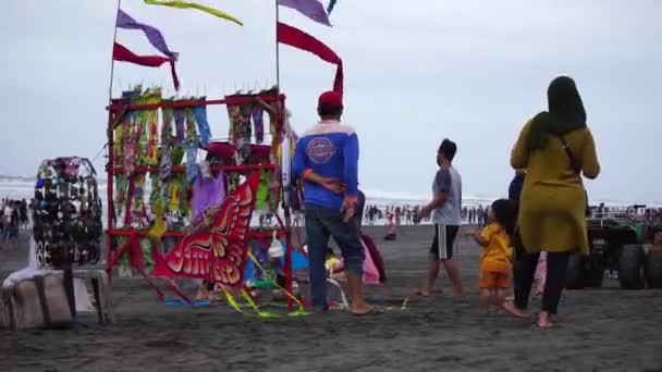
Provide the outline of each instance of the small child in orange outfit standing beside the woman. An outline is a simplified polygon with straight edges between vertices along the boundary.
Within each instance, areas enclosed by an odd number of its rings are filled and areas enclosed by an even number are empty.
[[[515,234],[516,209],[512,201],[500,199],[492,203],[489,211],[489,224],[482,232],[473,234],[474,239],[483,247],[480,255],[480,310],[487,313],[490,299],[494,297],[499,309],[505,301],[505,290],[511,286],[513,252],[512,244]]]

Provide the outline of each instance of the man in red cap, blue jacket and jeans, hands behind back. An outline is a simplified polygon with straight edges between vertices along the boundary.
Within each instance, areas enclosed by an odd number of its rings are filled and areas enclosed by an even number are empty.
[[[363,315],[375,309],[363,295],[364,249],[355,214],[358,199],[358,137],[341,123],[342,96],[319,97],[321,121],[296,142],[293,173],[304,183],[310,290],[317,310],[328,310],[324,261],[329,237],[342,250],[352,298],[351,310]]]

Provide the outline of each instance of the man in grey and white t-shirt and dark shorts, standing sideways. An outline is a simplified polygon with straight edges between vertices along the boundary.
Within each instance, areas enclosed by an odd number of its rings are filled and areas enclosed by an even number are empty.
[[[453,260],[453,246],[457,232],[462,225],[462,177],[453,168],[453,159],[457,152],[457,145],[450,139],[444,139],[437,151],[437,164],[439,170],[432,182],[433,199],[419,214],[419,219],[432,215],[434,224],[434,237],[430,247],[430,266],[424,280],[420,296],[430,296],[434,281],[439,276],[441,263],[443,263],[451,282],[453,283],[453,296],[462,296],[462,281],[459,268]]]

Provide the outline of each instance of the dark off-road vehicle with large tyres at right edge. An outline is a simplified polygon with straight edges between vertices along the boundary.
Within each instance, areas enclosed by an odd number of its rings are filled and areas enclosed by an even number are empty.
[[[662,225],[651,224],[638,213],[645,208],[633,206],[621,213],[592,211],[587,218],[590,255],[571,257],[568,289],[601,287],[608,270],[617,273],[623,289],[662,288],[662,252],[646,255],[643,249]]]

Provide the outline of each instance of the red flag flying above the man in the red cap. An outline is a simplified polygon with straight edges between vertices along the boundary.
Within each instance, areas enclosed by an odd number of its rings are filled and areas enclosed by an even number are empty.
[[[289,45],[291,47],[309,51],[322,60],[338,65],[335,71],[335,80],[333,82],[333,90],[343,94],[343,60],[331,48],[315,37],[304,33],[303,30],[286,25],[282,22],[278,23],[278,42]]]

